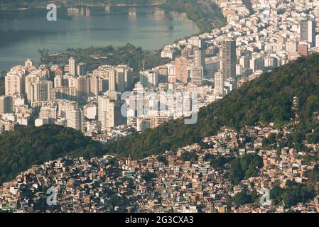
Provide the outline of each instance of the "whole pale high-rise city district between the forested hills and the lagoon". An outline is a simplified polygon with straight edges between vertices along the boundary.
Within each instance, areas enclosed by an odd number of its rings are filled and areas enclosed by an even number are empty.
[[[36,67],[27,60],[12,67],[0,97],[0,133],[47,123],[94,138],[118,126],[156,128],[319,50],[318,1],[252,1],[252,15],[241,0],[214,2],[227,26],[164,47],[161,55],[172,59],[166,65],[135,74],[127,65],[87,72],[85,62],[70,57],[63,66]]]

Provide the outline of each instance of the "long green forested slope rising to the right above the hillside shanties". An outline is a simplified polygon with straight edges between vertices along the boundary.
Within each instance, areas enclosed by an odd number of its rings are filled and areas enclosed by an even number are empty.
[[[265,72],[224,99],[200,109],[195,125],[185,125],[183,119],[169,121],[140,135],[121,138],[107,145],[107,150],[140,158],[198,143],[205,136],[215,135],[221,126],[239,129],[270,122],[282,126],[295,116],[294,96],[298,96],[296,112],[301,123],[293,135],[293,143],[301,150],[305,139],[319,143],[319,125],[313,116],[319,110],[318,54]]]

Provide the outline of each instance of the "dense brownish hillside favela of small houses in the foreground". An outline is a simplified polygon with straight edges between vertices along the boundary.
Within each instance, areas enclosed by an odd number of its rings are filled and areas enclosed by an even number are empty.
[[[235,206],[239,192],[259,192],[287,180],[307,182],[305,172],[315,162],[303,164],[303,153],[293,148],[272,150],[261,141],[270,135],[286,138],[288,128],[274,125],[222,128],[204,138],[206,146],[188,145],[176,152],[131,160],[110,155],[85,160],[61,158],[35,165],[0,187],[0,209],[14,212],[283,212],[283,205]],[[184,153],[197,158],[183,160]],[[207,157],[259,155],[264,167],[256,177],[231,184],[229,162],[219,169]],[[53,193],[54,192],[54,193]],[[54,197],[53,197],[54,196]],[[56,203],[53,204],[53,201]],[[319,211],[317,198],[291,207],[295,211]]]

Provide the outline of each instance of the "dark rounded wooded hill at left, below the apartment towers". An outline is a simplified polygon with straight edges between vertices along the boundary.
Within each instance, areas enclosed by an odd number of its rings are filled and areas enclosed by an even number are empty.
[[[31,165],[70,155],[102,155],[102,145],[80,131],[63,126],[27,126],[0,135],[0,184],[16,177]]]

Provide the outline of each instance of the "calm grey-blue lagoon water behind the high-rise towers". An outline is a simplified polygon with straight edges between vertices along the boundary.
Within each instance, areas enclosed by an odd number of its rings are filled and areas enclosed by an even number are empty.
[[[198,33],[185,14],[165,13],[154,7],[58,9],[58,20],[47,21],[45,9],[0,11],[0,72],[27,58],[39,62],[39,49],[63,52],[131,43],[156,50],[179,38]]]

